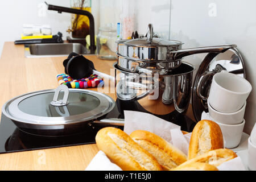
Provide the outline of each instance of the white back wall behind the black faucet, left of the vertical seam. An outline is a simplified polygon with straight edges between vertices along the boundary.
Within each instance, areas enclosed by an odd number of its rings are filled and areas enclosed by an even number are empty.
[[[49,24],[52,33],[58,31],[63,33],[65,40],[68,33],[66,30],[71,26],[71,14],[57,13],[47,10],[44,3],[70,7],[71,0],[8,0],[0,1],[0,55],[4,42],[20,39],[22,25],[28,24]],[[121,22],[121,2],[126,0],[91,0],[92,14],[95,22],[95,32],[105,23]],[[129,1],[131,2],[131,1]],[[133,0],[136,13],[136,30],[139,34],[146,34],[147,24],[154,24],[154,31],[163,38],[169,37],[170,28],[170,0]],[[160,21],[159,21],[160,19]]]

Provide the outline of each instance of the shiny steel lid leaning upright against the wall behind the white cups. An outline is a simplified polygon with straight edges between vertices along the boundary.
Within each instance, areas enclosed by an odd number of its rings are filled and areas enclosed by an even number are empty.
[[[200,64],[192,86],[192,110],[196,121],[201,120],[203,111],[208,112],[207,98],[213,75],[223,70],[245,78],[245,64],[238,49],[208,53]]]

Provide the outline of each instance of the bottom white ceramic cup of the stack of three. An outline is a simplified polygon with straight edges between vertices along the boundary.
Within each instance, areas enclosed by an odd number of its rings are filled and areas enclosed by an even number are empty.
[[[216,123],[221,128],[221,132],[224,138],[225,148],[237,147],[242,138],[243,127],[245,126],[245,119],[243,119],[243,122],[238,125],[226,125],[219,122],[216,122]]]

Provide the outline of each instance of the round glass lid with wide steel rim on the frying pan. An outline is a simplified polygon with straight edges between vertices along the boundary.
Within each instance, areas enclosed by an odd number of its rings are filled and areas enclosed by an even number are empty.
[[[61,92],[63,90],[64,92]],[[63,100],[57,100],[58,97]],[[105,94],[85,89],[42,90],[15,97],[2,108],[15,121],[36,125],[60,125],[90,121],[109,113],[114,100]]]

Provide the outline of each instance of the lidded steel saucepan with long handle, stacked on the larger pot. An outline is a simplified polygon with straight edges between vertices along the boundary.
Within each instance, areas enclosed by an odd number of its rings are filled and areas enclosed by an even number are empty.
[[[139,73],[141,68],[151,68],[160,75],[179,67],[181,59],[196,53],[225,52],[236,45],[197,47],[181,49],[182,42],[154,38],[152,24],[148,24],[146,38],[117,41],[118,66],[131,73]],[[142,71],[141,71],[142,72]],[[163,73],[163,74],[162,74]]]

